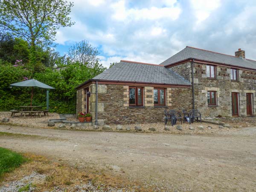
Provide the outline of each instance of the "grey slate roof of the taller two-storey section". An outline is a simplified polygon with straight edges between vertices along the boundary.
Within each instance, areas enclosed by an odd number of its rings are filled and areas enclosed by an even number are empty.
[[[186,60],[188,58],[228,64],[237,67],[256,69],[256,61],[188,46],[185,49],[178,52],[177,54],[170,57],[169,59],[167,59],[166,61],[163,61],[161,64],[166,66],[169,64],[176,63],[178,61]]]

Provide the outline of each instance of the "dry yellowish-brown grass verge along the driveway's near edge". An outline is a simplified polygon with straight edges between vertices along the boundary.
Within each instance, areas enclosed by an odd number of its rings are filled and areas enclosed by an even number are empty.
[[[23,154],[29,161],[23,163],[19,168],[13,172],[5,174],[4,180],[1,184],[10,183],[15,180],[20,180],[26,175],[30,175],[33,172],[45,175],[43,180],[31,180],[31,186],[35,189],[35,192],[51,191],[57,187],[63,189],[63,191],[78,191],[76,186],[92,183],[97,186],[97,189],[102,191],[108,191],[108,187],[116,189],[126,188],[127,191],[134,192],[153,192],[152,186],[143,186],[142,183],[137,181],[128,180],[125,177],[119,177],[112,175],[108,170],[98,170],[94,167],[76,167],[71,166],[67,162],[62,160],[49,160],[46,157],[38,156],[34,154]],[[30,188],[29,183],[20,188],[20,192],[26,191]],[[134,189],[134,186],[137,188]]]

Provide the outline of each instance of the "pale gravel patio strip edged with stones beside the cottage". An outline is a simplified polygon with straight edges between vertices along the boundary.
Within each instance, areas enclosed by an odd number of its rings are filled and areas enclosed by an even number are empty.
[[[42,116],[41,118],[38,116],[15,116],[14,118],[10,118],[10,112],[0,112],[0,119],[5,117],[9,118],[9,122],[1,122],[2,124],[8,125],[18,125],[25,126],[31,128],[57,128],[57,129],[72,129],[72,130],[87,130],[87,131],[119,131],[119,132],[146,132],[146,133],[171,133],[171,134],[213,134],[218,131],[235,131],[241,129],[244,126],[232,126],[232,128],[223,127],[219,125],[214,125],[211,123],[205,122],[194,122],[191,125],[189,123],[177,122],[177,125],[171,126],[170,122],[168,122],[167,126],[164,125],[163,122],[158,123],[146,123],[146,124],[129,124],[129,125],[109,125],[107,130],[104,126],[88,126],[88,127],[70,127],[64,125],[61,122],[55,123],[55,126],[49,127],[47,126],[48,119],[59,119],[58,113],[49,113],[49,116]],[[70,121],[77,121],[76,118],[68,118]],[[208,119],[213,120],[213,119]],[[216,119],[215,119],[216,121]],[[236,123],[237,124],[237,123]],[[230,123],[231,125],[231,123]],[[141,131],[136,131],[135,127],[140,127]],[[104,130],[105,129],[105,130]],[[178,130],[180,129],[180,130]]]

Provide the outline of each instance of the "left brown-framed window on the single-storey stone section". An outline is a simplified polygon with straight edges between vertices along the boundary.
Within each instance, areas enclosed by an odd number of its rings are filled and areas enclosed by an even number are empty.
[[[129,105],[143,106],[143,87],[129,87]]]

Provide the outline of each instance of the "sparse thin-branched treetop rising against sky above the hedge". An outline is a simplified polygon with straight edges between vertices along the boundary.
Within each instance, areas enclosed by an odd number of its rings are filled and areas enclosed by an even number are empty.
[[[97,55],[99,55],[97,48],[85,40],[71,46],[68,51],[68,57],[72,62],[79,62],[87,67],[93,67],[95,63],[98,63]]]

